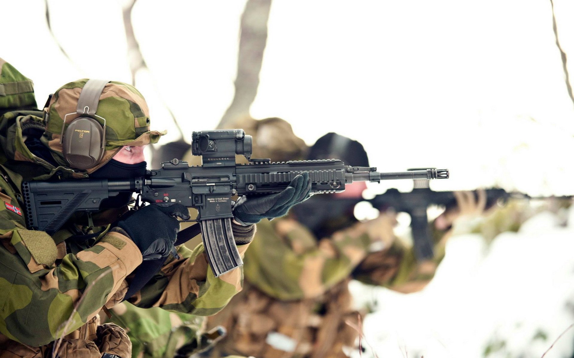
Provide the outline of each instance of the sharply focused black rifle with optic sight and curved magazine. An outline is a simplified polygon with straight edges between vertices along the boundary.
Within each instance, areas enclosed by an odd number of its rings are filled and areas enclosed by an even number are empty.
[[[251,148],[252,138],[243,129],[193,132],[192,154],[202,156],[201,166],[173,159],[163,162],[160,169],[146,171],[142,178],[25,182],[27,225],[53,234],[73,213],[98,211],[102,200],[120,192],[136,192],[142,202],[160,206],[180,203],[197,210],[197,219],[192,221],[199,221],[205,253],[219,276],[243,263],[231,231],[234,195],[280,192],[302,172],[309,172],[312,194],[343,191],[354,181],[448,178],[446,169],[382,173],[375,167],[347,166],[337,159],[272,163],[251,159]],[[249,163],[235,163],[235,154],[244,155]]]

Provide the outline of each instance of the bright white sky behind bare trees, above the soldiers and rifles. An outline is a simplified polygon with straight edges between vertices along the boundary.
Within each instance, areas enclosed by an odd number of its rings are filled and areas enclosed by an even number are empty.
[[[40,105],[77,78],[130,81],[121,2],[49,2],[74,64],[49,36],[41,0],[0,3],[3,13],[22,14],[3,17],[13,35],[0,56],[35,81]],[[244,5],[138,1],[134,30],[151,70],[138,88],[168,139],[177,133],[162,100],[188,139],[214,127],[230,103]],[[555,6],[561,45],[574,56],[574,3]],[[449,168],[451,179],[433,182],[435,190],[498,184],[574,194],[574,105],[549,1],[274,0],[252,115],[283,117],[309,144],[327,131],[358,139],[381,171]],[[388,187],[412,184],[374,190]]]

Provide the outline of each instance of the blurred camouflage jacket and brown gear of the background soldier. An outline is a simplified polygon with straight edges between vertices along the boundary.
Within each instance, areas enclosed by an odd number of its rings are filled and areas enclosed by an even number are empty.
[[[429,269],[398,240],[369,253],[374,240],[363,223],[319,241],[289,218],[258,223],[245,256],[245,290],[208,317],[208,329],[222,325],[229,333],[212,356],[344,357],[342,347],[352,346],[357,336],[352,322],[359,314],[351,309],[348,280],[414,292],[429,282],[443,257],[437,245]]]

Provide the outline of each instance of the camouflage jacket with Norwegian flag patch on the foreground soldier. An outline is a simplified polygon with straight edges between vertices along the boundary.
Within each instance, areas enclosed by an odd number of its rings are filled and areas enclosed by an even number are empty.
[[[50,345],[61,337],[93,339],[94,332],[80,328],[87,322],[97,325],[100,309],[122,300],[126,277],[142,262],[137,246],[122,234],[104,230],[92,242],[72,238],[86,229],[81,218],[71,219],[74,222],[52,237],[26,229],[23,180],[84,177],[71,168],[54,167],[28,150],[22,125],[40,125],[40,113],[8,112],[0,120],[0,347],[20,343],[36,354],[22,356],[41,356],[44,348],[30,347]],[[99,225],[109,229],[113,219]],[[247,234],[253,231],[254,227]],[[245,252],[246,246],[239,251]],[[242,270],[214,277],[202,245],[194,250],[182,245],[178,253],[180,259],[170,257],[130,302],[205,316],[218,312],[241,290]]]

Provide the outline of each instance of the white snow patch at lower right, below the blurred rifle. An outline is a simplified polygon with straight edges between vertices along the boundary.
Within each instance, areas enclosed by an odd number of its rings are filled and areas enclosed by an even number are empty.
[[[538,214],[490,247],[480,235],[452,237],[418,293],[352,282],[356,306],[376,309],[364,321],[363,357],[478,358],[489,345],[490,358],[542,357],[574,323],[574,210],[567,215],[563,227],[556,215]],[[572,357],[573,341],[568,329],[545,358]]]

